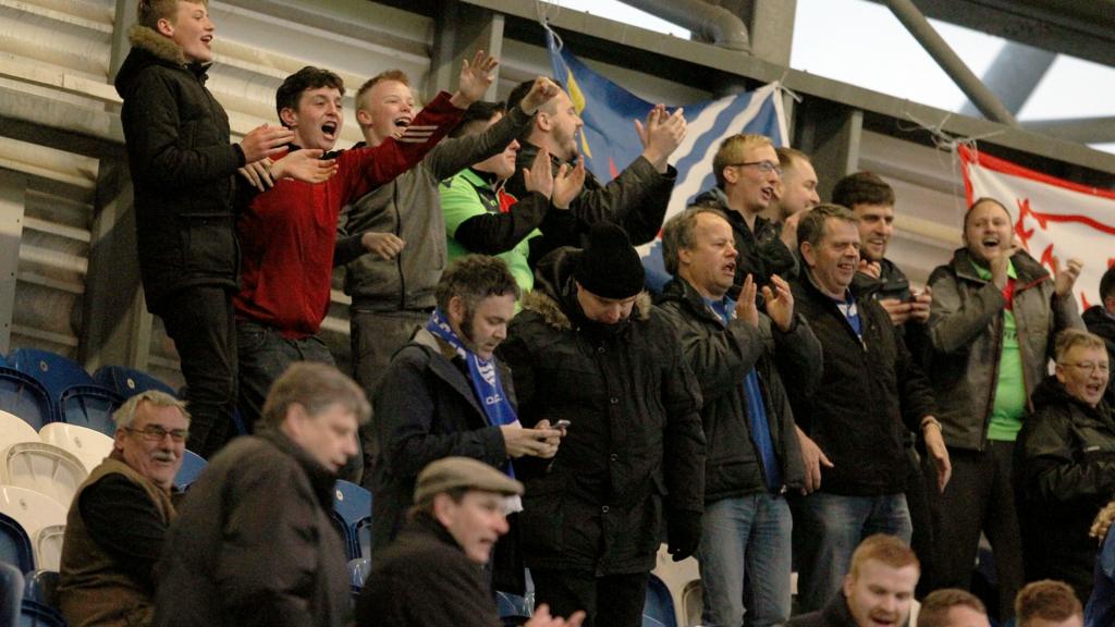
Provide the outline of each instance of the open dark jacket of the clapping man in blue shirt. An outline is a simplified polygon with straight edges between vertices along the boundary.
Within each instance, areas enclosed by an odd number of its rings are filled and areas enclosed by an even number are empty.
[[[784,334],[760,315],[759,327],[740,319],[725,327],[685,279],[667,283],[658,305],[677,329],[681,350],[700,384],[700,417],[708,441],[705,501],[767,490],[744,396],[744,376],[753,368],[759,373],[783,484],[801,488],[805,478],[794,413],[775,364],[786,368],[783,372],[795,386],[811,394],[821,379],[822,356],[809,326],[795,319]]]

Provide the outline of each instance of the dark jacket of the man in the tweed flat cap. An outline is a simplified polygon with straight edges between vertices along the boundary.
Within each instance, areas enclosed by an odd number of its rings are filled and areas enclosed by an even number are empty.
[[[492,591],[453,536],[418,513],[376,558],[356,604],[356,627],[462,626],[500,626]]]

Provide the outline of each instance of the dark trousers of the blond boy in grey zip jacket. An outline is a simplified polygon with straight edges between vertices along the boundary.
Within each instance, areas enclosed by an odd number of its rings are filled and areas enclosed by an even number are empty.
[[[429,311],[358,311],[350,309],[352,326],[352,377],[363,388],[368,402],[375,405],[379,382],[384,380],[391,357],[410,341],[415,331],[429,320]],[[360,484],[371,490],[372,467],[378,453],[371,419],[360,427],[363,448],[363,476]]]

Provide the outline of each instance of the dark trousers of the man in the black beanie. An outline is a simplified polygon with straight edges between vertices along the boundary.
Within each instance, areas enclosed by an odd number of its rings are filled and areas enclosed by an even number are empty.
[[[640,627],[647,602],[649,572],[597,577],[582,570],[531,569],[534,607],[550,606],[552,616],[568,618],[583,609],[584,627]]]

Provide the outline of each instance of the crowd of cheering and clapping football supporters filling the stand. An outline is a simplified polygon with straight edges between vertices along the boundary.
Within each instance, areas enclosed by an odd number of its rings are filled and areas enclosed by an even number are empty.
[[[683,110],[636,120],[604,183],[556,81],[481,100],[483,51],[420,109],[405,74],[369,79],[345,151],[345,85],[306,67],[233,144],[207,2],[138,7],[116,78],[138,263],[188,389],[128,401],[74,501],[72,627],[495,626],[527,569],[527,625],[634,627],[663,542],[709,626],[903,625],[914,598],[920,625],[1115,625],[1115,271],[1082,318],[1080,262],[1050,273],[979,199],[918,289],[886,182],[822,203],[809,156],[760,135],[666,220]],[[651,293],[634,247],[659,232]],[[318,336],[336,267],[352,379]],[[210,466],[180,494],[184,448]],[[374,499],[355,610],[338,478]]]

